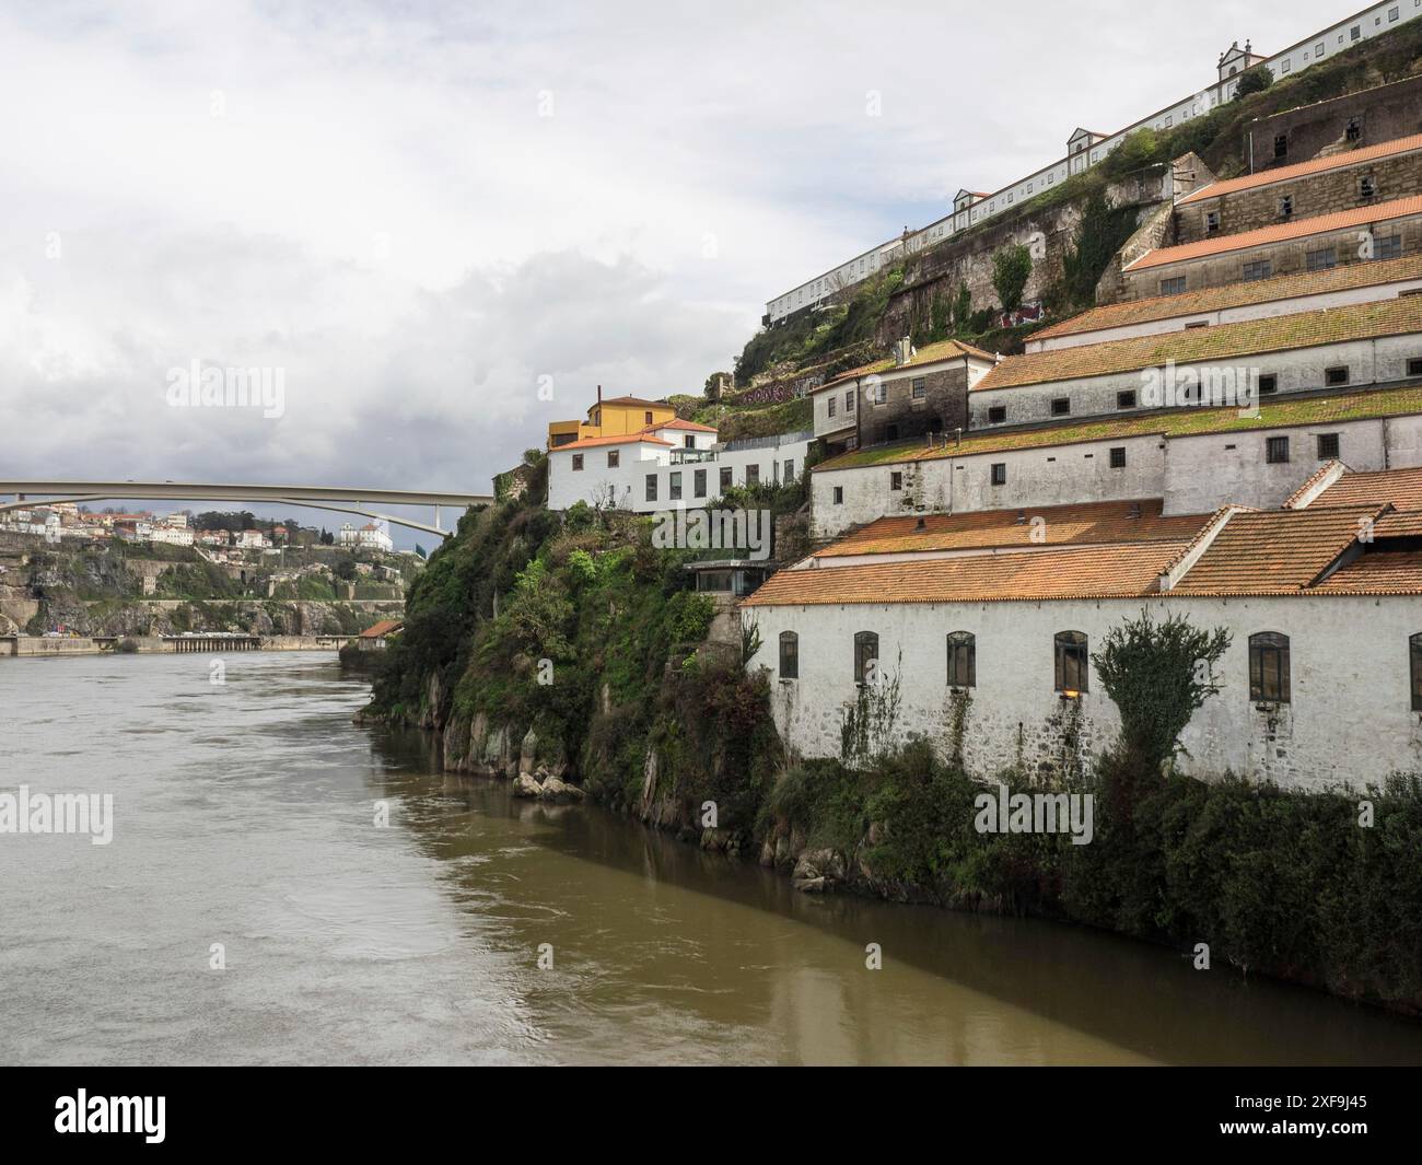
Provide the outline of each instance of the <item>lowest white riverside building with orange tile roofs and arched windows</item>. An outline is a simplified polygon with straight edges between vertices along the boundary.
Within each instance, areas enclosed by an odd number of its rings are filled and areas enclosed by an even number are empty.
[[[987,780],[1109,747],[1092,651],[1149,609],[1231,643],[1180,765],[1321,789],[1422,768],[1422,471],[1331,464],[1288,509],[1160,499],[884,519],[744,600],[801,757],[924,735]],[[920,529],[920,521],[923,528]]]

